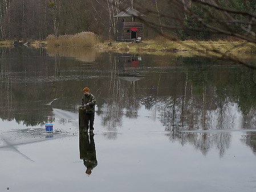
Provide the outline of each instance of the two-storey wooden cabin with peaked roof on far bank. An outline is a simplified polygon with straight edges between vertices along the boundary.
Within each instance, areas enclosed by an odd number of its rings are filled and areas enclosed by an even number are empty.
[[[116,37],[117,41],[136,41],[138,37],[144,37],[143,23],[136,22],[136,18],[144,16],[139,11],[128,7],[114,17],[117,18]]]

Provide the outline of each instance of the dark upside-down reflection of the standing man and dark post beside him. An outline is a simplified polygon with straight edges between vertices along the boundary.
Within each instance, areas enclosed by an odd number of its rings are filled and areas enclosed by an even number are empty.
[[[92,169],[97,166],[96,150],[94,143],[94,134],[80,133],[79,135],[80,159],[84,160],[86,166],[86,174],[90,175]]]

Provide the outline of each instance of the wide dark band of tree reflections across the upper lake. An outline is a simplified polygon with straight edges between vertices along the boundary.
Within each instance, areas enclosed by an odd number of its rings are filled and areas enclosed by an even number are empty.
[[[216,147],[222,157],[231,136],[183,131],[255,130],[254,70],[218,57],[83,51],[1,48],[1,119],[26,126],[54,122],[52,108],[77,111],[81,87],[90,85],[107,139],[116,139],[123,119],[137,119],[141,109],[161,122],[170,140],[203,154]],[[253,146],[251,138],[246,144]]]

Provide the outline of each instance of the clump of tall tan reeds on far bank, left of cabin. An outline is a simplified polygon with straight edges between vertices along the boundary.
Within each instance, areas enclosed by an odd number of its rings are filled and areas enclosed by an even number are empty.
[[[55,47],[95,47],[100,43],[100,37],[93,32],[80,32],[75,35],[61,35],[59,37],[48,35],[46,40],[49,46]]]

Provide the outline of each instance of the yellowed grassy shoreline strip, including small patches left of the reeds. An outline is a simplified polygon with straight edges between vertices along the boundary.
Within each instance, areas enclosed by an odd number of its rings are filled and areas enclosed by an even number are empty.
[[[1,41],[2,47],[13,47],[14,41]],[[32,41],[29,46],[40,48],[50,47],[47,41]],[[78,47],[77,47],[78,48]],[[256,45],[245,41],[157,41],[147,40],[141,43],[104,41],[95,45],[101,51],[118,51],[130,53],[149,53],[160,55],[175,52],[201,53],[256,53]]]

